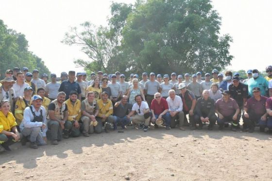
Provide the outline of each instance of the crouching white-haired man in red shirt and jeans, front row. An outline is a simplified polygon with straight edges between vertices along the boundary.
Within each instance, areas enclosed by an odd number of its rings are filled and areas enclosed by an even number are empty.
[[[153,115],[151,121],[154,123],[156,119],[163,118],[166,130],[170,130],[171,115],[168,110],[166,99],[162,98],[160,93],[155,93],[154,99],[151,102],[151,112]]]

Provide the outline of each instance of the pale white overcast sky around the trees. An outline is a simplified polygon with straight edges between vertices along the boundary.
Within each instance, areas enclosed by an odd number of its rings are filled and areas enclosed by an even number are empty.
[[[136,0],[114,0],[134,3]],[[90,21],[106,26],[112,0],[6,0],[0,19],[10,29],[26,35],[29,50],[42,58],[52,73],[83,71],[73,63],[88,60],[78,46],[61,43],[70,27]],[[227,69],[262,71],[272,65],[272,0],[212,0],[221,16],[221,34],[230,34],[234,56]]]

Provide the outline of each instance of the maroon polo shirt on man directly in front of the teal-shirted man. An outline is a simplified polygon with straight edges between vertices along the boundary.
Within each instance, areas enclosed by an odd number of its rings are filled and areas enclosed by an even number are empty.
[[[265,104],[268,98],[261,96],[261,99],[258,101],[254,97],[247,99],[244,104],[244,107],[247,108],[247,112],[256,115],[264,115],[266,113]]]

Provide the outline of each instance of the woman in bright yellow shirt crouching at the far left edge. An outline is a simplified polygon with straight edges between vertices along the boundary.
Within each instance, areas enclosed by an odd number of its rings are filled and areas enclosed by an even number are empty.
[[[0,103],[0,145],[11,151],[10,145],[20,141],[22,135],[17,131],[15,117],[10,112],[10,103],[3,100]]]

